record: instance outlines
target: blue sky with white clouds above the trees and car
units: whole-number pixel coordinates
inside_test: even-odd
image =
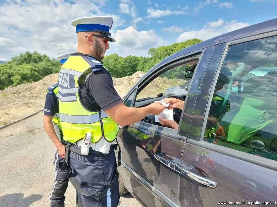
[[[26,51],[56,57],[77,48],[70,22],[112,16],[106,54],[147,55],[149,48],[206,40],[277,18],[276,0],[0,0],[0,60]]]

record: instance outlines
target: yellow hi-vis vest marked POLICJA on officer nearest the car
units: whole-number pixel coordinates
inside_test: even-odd
[[[89,111],[80,101],[79,83],[97,70],[106,70],[102,63],[88,55],[71,55],[59,73],[59,112],[63,139],[75,143],[91,132],[91,142],[102,137],[108,142],[115,140],[118,125],[103,110]],[[105,94],[103,94],[105,95]]]

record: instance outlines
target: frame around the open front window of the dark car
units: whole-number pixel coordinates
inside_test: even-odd
[[[151,71],[151,73],[148,74],[147,77],[142,78],[140,80],[140,83],[138,85],[136,85],[133,89],[130,89],[130,92],[128,94],[128,96],[123,98],[123,103],[125,104],[125,101],[127,101],[127,99],[130,97],[130,95],[132,95],[132,93],[136,90],[136,95],[134,96],[134,101],[133,101],[133,105],[132,107],[135,107],[135,100],[137,95],[151,82],[153,81],[155,78],[157,78],[159,75],[161,75],[162,73],[177,67],[178,65],[182,64],[182,63],[186,63],[189,62],[190,60],[193,59],[198,59],[198,63],[201,61],[201,57],[203,55],[203,51],[205,50],[205,48],[203,49],[199,49],[190,53],[187,53],[185,55],[179,56],[173,60],[170,60],[164,64],[162,64],[161,66],[155,68],[155,70]],[[195,68],[195,72],[198,68],[199,64],[197,64],[196,68]],[[194,72],[194,74],[195,74]],[[194,74],[191,78],[191,81],[193,81],[194,78]],[[190,89],[188,90],[189,94]],[[136,106],[138,107],[138,106]],[[184,110],[184,108],[183,108]],[[180,119],[181,122],[181,119]],[[145,129],[148,130],[150,132],[156,133],[156,134],[160,134],[163,136],[167,136],[167,137],[171,137],[173,139],[179,139],[182,141],[186,140],[186,137],[183,136],[179,136],[179,129],[171,129],[168,127],[163,127],[163,126],[158,126],[155,124],[149,124],[149,123],[145,123],[145,122],[136,122],[134,124],[130,124],[131,126],[137,127],[137,128],[141,128],[141,129]],[[180,123],[179,123],[179,128],[180,128]]]

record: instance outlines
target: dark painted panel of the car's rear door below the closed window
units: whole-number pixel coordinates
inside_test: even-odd
[[[275,170],[186,143],[182,160],[195,166],[199,175],[217,183],[216,188],[200,187],[180,177],[181,206],[217,206],[224,201],[272,202],[277,195]],[[248,206],[248,205],[246,205]],[[250,205],[249,205],[250,206]],[[259,205],[252,205],[259,206]]]

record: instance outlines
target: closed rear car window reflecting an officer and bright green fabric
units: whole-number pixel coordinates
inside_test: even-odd
[[[231,64],[243,63],[240,67]],[[277,161],[277,37],[229,47],[204,141]]]

